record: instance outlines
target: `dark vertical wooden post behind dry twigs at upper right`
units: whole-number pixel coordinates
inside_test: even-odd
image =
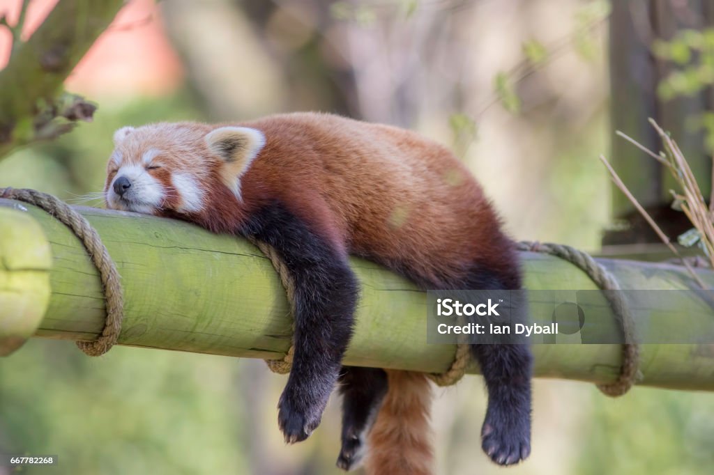
[[[709,0],[613,1],[610,17],[610,85],[612,114],[612,160],[615,170],[635,198],[653,215],[670,238],[691,228],[683,213],[670,208],[674,180],[660,164],[630,143],[615,136],[623,131],[651,150],[661,144],[648,123],[654,118],[672,133],[687,158],[702,193],[711,189],[712,163],[705,153],[703,133],[690,124],[714,101],[711,91],[692,97],[663,101],[657,86],[675,66],[655,58],[655,39],[670,41],[681,29],[702,29],[714,19]],[[625,196],[613,186],[613,215],[626,226],[605,233],[603,245],[628,245],[660,242]],[[609,252],[608,252],[609,253]],[[629,251],[628,251],[629,253]]]

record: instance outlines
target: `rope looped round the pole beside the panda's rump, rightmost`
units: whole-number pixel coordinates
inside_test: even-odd
[[[618,281],[615,280],[615,277],[613,277],[605,267],[595,262],[590,255],[573,247],[550,242],[522,241],[518,243],[518,250],[543,252],[560,257],[578,266],[600,289],[620,290]],[[638,379],[638,362],[640,358],[640,349],[638,344],[634,343],[635,325],[632,320],[632,315],[626,305],[620,305],[614,293],[615,292],[605,292],[605,297],[610,301],[610,307],[620,320],[623,336],[625,337],[625,343],[622,347],[622,367],[620,368],[618,379],[615,379],[614,382],[610,384],[598,384],[598,389],[600,389],[603,394],[611,397],[622,396],[635,384],[635,381]]]

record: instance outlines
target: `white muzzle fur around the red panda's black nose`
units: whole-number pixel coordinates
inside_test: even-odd
[[[124,198],[114,191],[117,178],[126,177],[131,182],[131,188]],[[141,165],[124,165],[116,172],[114,180],[106,190],[106,200],[112,208],[137,213],[151,214],[164,203],[164,187],[152,177]]]

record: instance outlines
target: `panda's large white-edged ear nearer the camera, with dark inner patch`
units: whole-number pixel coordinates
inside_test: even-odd
[[[266,139],[261,131],[248,127],[221,127],[206,135],[206,145],[223,160],[221,178],[241,198],[240,178],[246,173]]]

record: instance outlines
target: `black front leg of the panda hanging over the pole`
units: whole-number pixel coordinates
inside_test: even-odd
[[[346,257],[281,204],[263,208],[240,230],[271,245],[293,277],[295,354],[278,402],[286,442],[320,424],[352,336],[358,285]]]

